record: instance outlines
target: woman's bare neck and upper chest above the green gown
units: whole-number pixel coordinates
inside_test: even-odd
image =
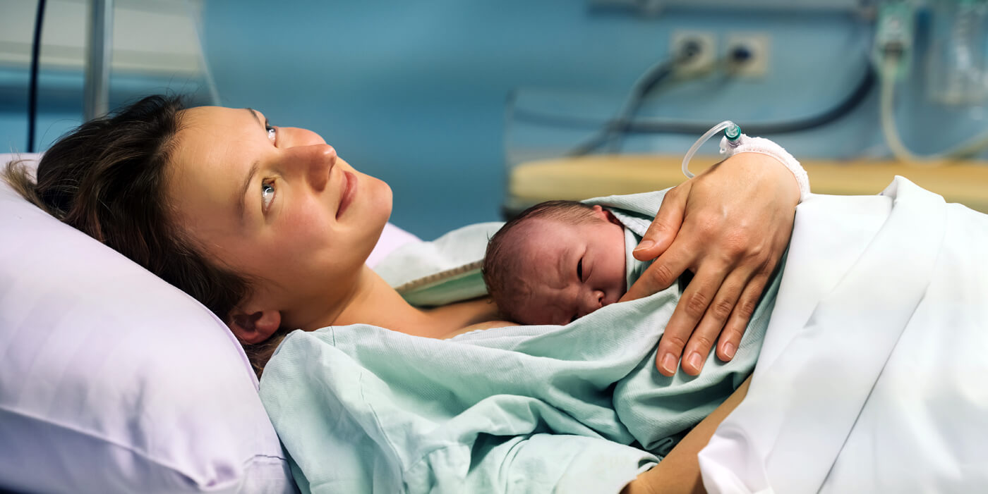
[[[401,298],[370,267],[364,266],[353,295],[344,304],[343,311],[332,318],[331,324],[364,323],[415,336],[439,338],[495,315],[496,307],[486,299],[418,309]]]

